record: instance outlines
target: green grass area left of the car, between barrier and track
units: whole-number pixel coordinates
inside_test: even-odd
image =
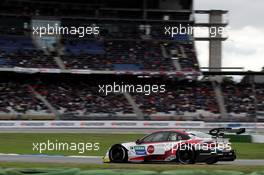
[[[66,142],[66,143],[100,143],[100,150],[86,151],[45,151],[43,154],[51,155],[88,155],[103,156],[107,149],[115,144],[136,140],[144,135],[140,134],[52,134],[52,133],[0,133],[0,153],[39,154],[33,151],[33,143]],[[3,144],[4,143],[4,144]]]

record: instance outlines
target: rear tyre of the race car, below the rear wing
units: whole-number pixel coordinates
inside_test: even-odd
[[[188,145],[181,145],[180,149],[176,153],[177,161],[182,164],[194,164],[195,163],[195,151],[194,148],[189,148]]]

